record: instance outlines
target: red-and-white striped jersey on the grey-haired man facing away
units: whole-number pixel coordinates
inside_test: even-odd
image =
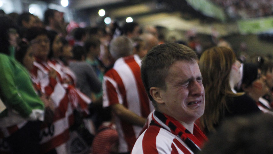
[[[153,110],[140,76],[140,58],[137,55],[121,57],[103,77],[103,107],[122,104],[139,116],[147,118]],[[115,117],[119,133],[119,153],[131,151],[142,127],[128,124]]]

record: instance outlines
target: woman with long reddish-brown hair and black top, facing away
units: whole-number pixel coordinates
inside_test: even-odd
[[[224,118],[260,112],[253,99],[234,90],[241,80],[240,66],[235,53],[226,47],[212,47],[200,57],[206,99],[200,124],[207,133],[214,132]]]

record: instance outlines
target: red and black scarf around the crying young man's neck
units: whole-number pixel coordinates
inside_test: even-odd
[[[187,130],[180,122],[174,118],[154,111],[152,114],[152,121],[150,125],[159,126],[165,130],[168,130],[172,134],[179,136],[184,143],[191,149],[193,152],[201,151],[200,148],[208,138],[205,134],[194,124],[193,134]]]

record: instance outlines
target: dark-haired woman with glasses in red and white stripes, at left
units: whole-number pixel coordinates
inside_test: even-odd
[[[50,51],[47,30],[32,27],[27,31],[26,39],[35,57],[31,70],[32,81],[42,93],[53,100],[55,109],[52,124],[44,123],[40,130],[41,153],[67,153],[73,111],[66,90],[57,79],[57,73],[47,63]]]

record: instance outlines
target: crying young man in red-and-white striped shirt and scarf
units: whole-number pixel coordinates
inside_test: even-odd
[[[196,53],[177,43],[152,48],[141,63],[141,77],[155,111],[132,154],[190,154],[207,140],[194,124],[205,98]]]

